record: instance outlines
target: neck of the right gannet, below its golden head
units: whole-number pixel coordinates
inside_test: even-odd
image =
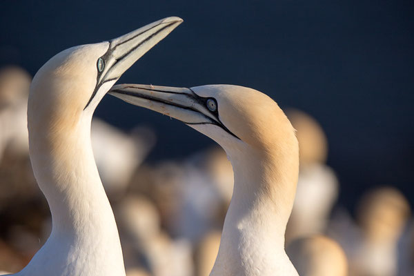
[[[232,153],[235,187],[210,275],[297,275],[284,250],[297,164],[253,150]]]

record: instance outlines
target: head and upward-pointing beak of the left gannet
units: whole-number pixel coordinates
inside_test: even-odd
[[[168,17],[124,36],[75,46],[46,62],[30,87],[28,126],[72,126],[92,116],[109,88],[182,19]]]

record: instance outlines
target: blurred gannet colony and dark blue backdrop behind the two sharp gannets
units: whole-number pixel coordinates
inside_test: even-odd
[[[301,148],[291,259],[297,241],[322,234],[344,250],[349,275],[413,275],[414,3],[402,0],[1,1],[0,270],[21,269],[50,231],[28,159],[32,76],[61,50],[168,16],[184,23],[118,83],[270,95]],[[224,152],[110,96],[92,144],[128,275],[208,275],[233,188]]]

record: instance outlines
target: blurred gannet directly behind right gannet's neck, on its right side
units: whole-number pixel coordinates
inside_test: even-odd
[[[288,110],[288,119],[299,141],[299,179],[292,214],[286,228],[286,242],[325,233],[329,215],[338,197],[339,181],[325,162],[326,135],[318,122],[299,110]]]

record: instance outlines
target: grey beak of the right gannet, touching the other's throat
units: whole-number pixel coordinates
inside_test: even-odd
[[[183,121],[184,124],[219,126],[238,138],[221,123],[218,110],[208,109],[208,101],[212,99],[200,97],[191,88],[119,84],[113,86],[108,93],[135,106],[148,108]]]

